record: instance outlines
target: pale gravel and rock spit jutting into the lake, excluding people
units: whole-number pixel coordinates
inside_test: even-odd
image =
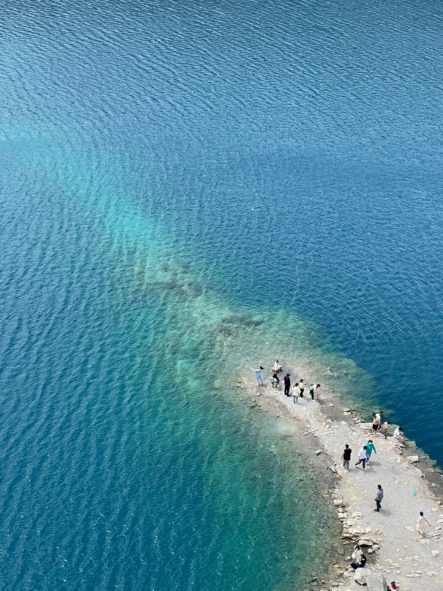
[[[299,376],[309,383],[318,381],[318,375],[312,375],[309,366],[295,362],[284,365],[281,374],[289,372],[292,384]],[[371,438],[371,424],[366,423],[364,417],[372,416],[372,411],[365,413],[362,408],[348,407],[333,388],[322,387],[320,400],[314,401],[309,394],[306,397],[305,390],[305,397],[299,398],[296,405],[292,397],[285,397],[282,387],[279,391],[271,387],[266,374],[269,375],[269,371],[265,369],[265,385],[260,387],[249,368],[241,369],[237,381],[239,394],[253,410],[265,411],[297,425],[302,452],[311,465],[320,468],[315,472],[323,498],[337,511],[341,525],[338,560],[330,565],[328,573],[312,580],[312,591],[351,591],[359,588],[360,583],[371,591],[384,591],[390,589],[386,582],[389,584],[393,580],[401,591],[442,589],[443,477],[437,462],[417,449],[414,441],[400,445],[392,437],[393,430],[387,440],[381,434]],[[358,450],[368,439],[374,440],[377,454],[373,454],[370,466],[363,472],[354,467],[354,462]],[[340,461],[345,443],[353,450],[349,473],[341,467]],[[377,514],[372,499],[379,481],[385,490],[385,499],[382,511]],[[425,540],[418,540],[415,531],[419,511],[424,511],[432,524]],[[364,573],[359,583],[354,580],[354,571],[348,571],[349,557],[356,543],[368,558],[367,571],[373,573],[366,583]]]

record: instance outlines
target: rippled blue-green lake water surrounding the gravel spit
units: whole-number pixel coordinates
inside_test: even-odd
[[[438,2],[9,2],[4,589],[302,589],[328,560],[271,356],[443,464]]]

